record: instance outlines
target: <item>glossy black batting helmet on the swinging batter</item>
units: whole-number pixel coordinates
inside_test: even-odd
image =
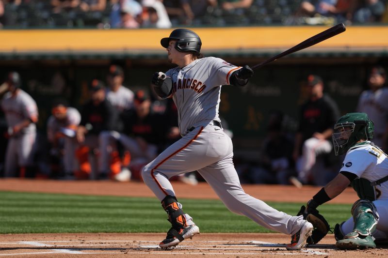
[[[161,45],[164,48],[167,48],[170,40],[172,39],[177,40],[175,48],[180,52],[194,51],[196,53],[199,53],[199,51],[201,50],[201,39],[192,30],[175,29],[171,32],[168,38],[161,39]]]

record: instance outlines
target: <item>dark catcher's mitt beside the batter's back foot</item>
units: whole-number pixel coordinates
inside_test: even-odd
[[[303,218],[314,226],[311,236],[307,238],[308,244],[318,243],[330,230],[329,223],[317,209],[310,208],[307,212],[306,207],[302,205],[297,215],[303,215]]]

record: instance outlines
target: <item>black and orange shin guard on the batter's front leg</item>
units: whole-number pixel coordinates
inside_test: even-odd
[[[162,207],[168,214],[168,221],[173,228],[180,229],[187,227],[186,217],[182,210],[182,204],[180,204],[175,196],[166,196],[162,200]]]

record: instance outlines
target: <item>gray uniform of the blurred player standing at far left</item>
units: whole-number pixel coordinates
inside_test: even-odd
[[[1,102],[9,127],[29,119],[33,121],[19,133],[9,139],[5,155],[5,177],[17,176],[17,167],[32,165],[33,151],[36,140],[38,108],[36,102],[25,91],[19,89],[15,96],[8,92]]]

